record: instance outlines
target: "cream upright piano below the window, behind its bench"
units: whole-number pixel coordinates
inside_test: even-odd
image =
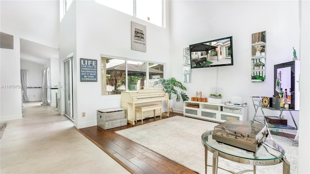
[[[169,98],[164,91],[156,91],[155,89],[140,89],[138,91],[122,91],[121,93],[121,107],[126,109],[127,122],[135,124],[135,119],[141,119],[141,113],[135,116],[135,107],[148,105],[148,104],[162,104],[162,101],[167,101],[167,114],[163,113],[162,116],[169,116]],[[156,110],[156,116],[160,115],[160,110]],[[154,117],[153,111],[146,111],[143,117]]]

